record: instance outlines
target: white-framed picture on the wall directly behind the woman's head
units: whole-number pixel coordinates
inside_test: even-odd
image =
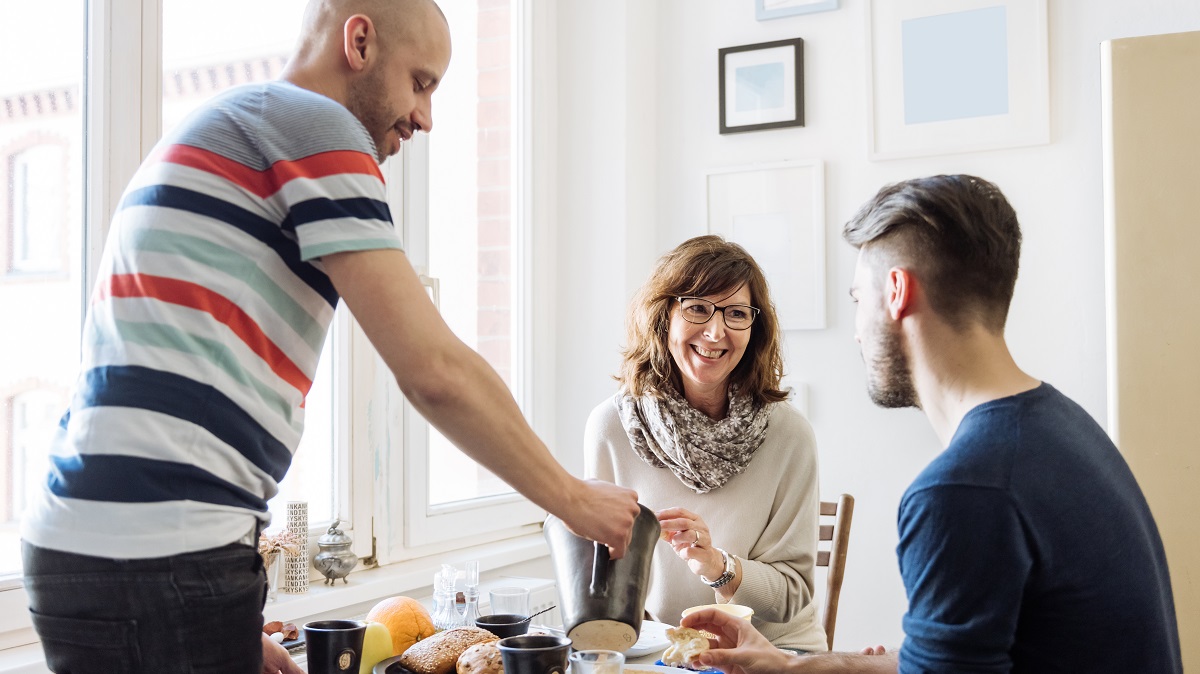
[[[826,326],[824,164],[780,162],[709,171],[708,231],[762,267],[782,330]]]

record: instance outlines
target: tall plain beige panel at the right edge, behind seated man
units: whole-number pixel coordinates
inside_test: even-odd
[[[1166,547],[1183,669],[1200,672],[1200,32],[1105,42],[1102,67],[1109,429]]]

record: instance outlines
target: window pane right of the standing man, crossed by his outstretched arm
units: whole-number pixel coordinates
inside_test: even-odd
[[[528,5],[478,0],[442,8],[454,60],[433,97],[434,132],[407,150],[404,192],[415,200],[406,203],[408,254],[427,275],[443,318],[530,417]],[[394,550],[511,535],[545,516],[412,410],[406,420],[406,541],[392,541]]]

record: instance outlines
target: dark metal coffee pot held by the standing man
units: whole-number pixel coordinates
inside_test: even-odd
[[[608,559],[607,546],[576,536],[554,516],[546,518],[558,608],[575,649],[625,652],[637,643],[660,531],[654,513],[641,506],[625,556]]]

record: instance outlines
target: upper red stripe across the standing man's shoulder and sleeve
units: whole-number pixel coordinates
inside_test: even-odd
[[[278,161],[266,170],[256,170],[209,150],[191,145],[168,145],[157,150],[146,163],[154,162],[180,164],[210,173],[262,199],[275,194],[298,177],[318,179],[359,174],[370,175],[383,182],[383,174],[379,173],[379,164],[374,157],[352,150],[319,152],[295,161]]]

